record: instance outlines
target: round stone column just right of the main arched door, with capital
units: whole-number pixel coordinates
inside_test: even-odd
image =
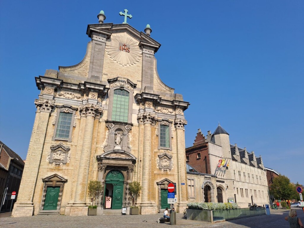
[[[154,113],[139,113],[137,119],[143,123],[143,170],[142,170],[142,194],[141,214],[155,213],[156,204],[151,201],[151,193],[148,190],[151,184],[151,125],[157,116]]]

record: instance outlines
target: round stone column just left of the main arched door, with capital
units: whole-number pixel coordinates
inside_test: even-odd
[[[90,157],[92,150],[92,138],[95,118],[100,118],[103,112],[99,105],[86,104],[79,106],[81,118],[85,118],[85,131],[81,148],[80,163],[78,166],[78,177],[75,198],[70,209],[70,215],[87,215],[86,193],[88,188],[88,175]]]

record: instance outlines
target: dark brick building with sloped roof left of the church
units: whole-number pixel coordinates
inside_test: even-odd
[[[22,158],[0,141],[0,201],[3,202],[1,212],[9,211],[12,202],[13,205],[16,202],[23,168]],[[13,191],[16,192],[16,199],[11,199]]]

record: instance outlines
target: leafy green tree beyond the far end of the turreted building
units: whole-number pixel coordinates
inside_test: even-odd
[[[290,183],[288,177],[284,175],[279,175],[272,180],[271,185],[271,195],[274,195],[275,199],[287,200],[293,198],[294,195],[294,185]]]

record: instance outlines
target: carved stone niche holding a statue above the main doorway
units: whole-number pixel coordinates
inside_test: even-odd
[[[109,130],[106,133],[104,151],[125,150],[130,152],[132,148],[130,145],[132,126],[127,123],[114,123],[112,121],[107,122],[106,126]]]

